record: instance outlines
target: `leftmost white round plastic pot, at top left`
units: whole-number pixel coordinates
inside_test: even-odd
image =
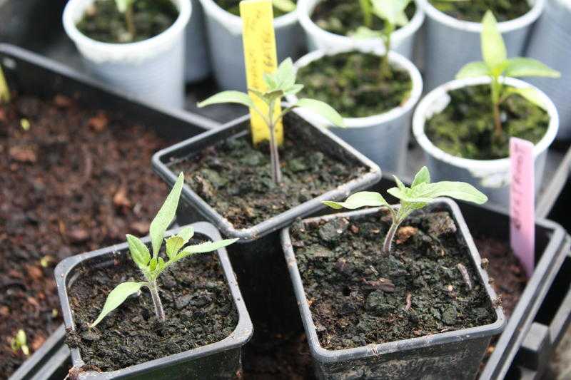
[[[166,31],[134,43],[105,43],[82,34],[76,23],[94,0],[69,0],[64,29],[96,78],[147,103],[183,108],[185,29],[189,0],[172,0],[178,18]]]

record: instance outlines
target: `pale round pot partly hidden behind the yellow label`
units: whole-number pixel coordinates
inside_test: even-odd
[[[242,19],[216,4],[200,0],[206,16],[206,31],[212,69],[218,86],[223,90],[246,91],[246,72],[242,41]],[[276,31],[278,61],[297,58],[300,48],[300,28],[296,12],[273,21]]]

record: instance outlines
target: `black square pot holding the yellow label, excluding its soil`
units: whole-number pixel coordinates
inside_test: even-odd
[[[295,113],[290,113],[286,115],[286,124],[288,119],[291,120],[290,118],[300,117]],[[243,116],[223,128],[208,131],[170,148],[160,150],[153,156],[153,169],[172,187],[178,173],[174,173],[169,168],[171,163],[192,157],[222,140],[248,135],[249,120],[249,115]],[[318,210],[323,210],[325,206],[321,201],[345,199],[351,193],[377,183],[381,178],[380,168],[375,163],[325,128],[306,123],[303,128],[298,127],[295,133],[298,134],[296,136],[298,138],[317,142],[318,148],[323,152],[341,160],[353,160],[360,166],[368,168],[368,173],[348,183],[341,183],[337,188],[319,197],[249,228],[234,228],[226,218],[186,184],[183,186],[181,195],[183,202],[178,212],[178,223],[181,225],[197,220],[208,220],[221,230],[224,237],[241,239],[228,247],[228,254],[253,319],[254,340],[261,342],[268,341],[268,337],[273,334],[286,334],[301,330],[295,297],[283,260],[279,230],[291,225],[298,217],[307,217]]]

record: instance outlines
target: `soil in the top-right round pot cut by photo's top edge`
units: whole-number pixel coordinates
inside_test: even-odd
[[[439,11],[462,21],[481,22],[486,11],[494,13],[497,21],[510,21],[527,14],[531,6],[527,0],[429,0]]]

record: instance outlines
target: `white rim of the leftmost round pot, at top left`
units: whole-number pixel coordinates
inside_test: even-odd
[[[143,61],[167,51],[183,32],[191,18],[192,5],[188,0],[171,0],[178,9],[175,22],[161,34],[143,41],[131,43],[108,43],[96,41],[77,29],[76,22],[81,19],[85,9],[95,0],[69,0],[64,8],[62,21],[66,34],[77,48],[91,61]]]

